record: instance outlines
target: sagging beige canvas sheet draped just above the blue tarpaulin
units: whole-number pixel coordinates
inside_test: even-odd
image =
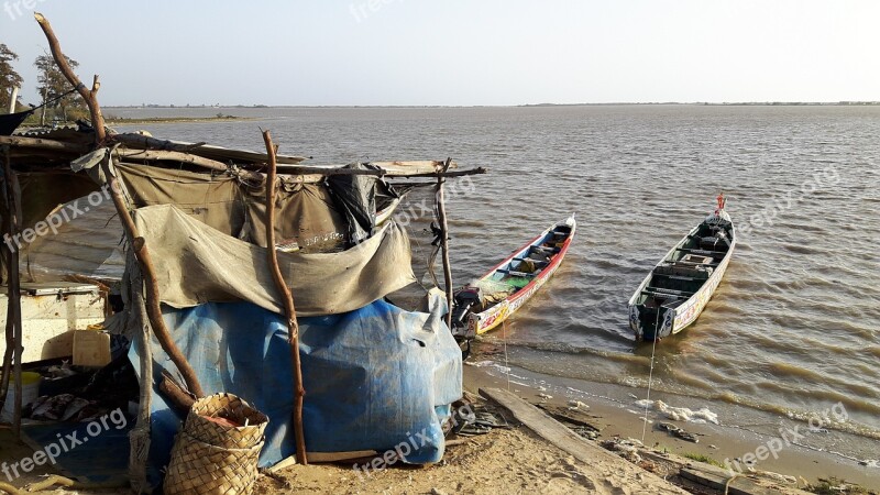
[[[184,308],[245,300],[284,312],[265,248],[226,235],[172,205],[141,208],[134,220],[153,258],[162,302]],[[343,252],[278,252],[278,264],[301,316],[351,311],[416,279],[409,239],[394,222]]]

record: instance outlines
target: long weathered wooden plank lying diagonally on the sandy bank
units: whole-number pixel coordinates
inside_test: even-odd
[[[625,480],[628,484],[641,483],[645,485],[646,491],[651,493],[686,494],[683,490],[661,480],[656,474],[645,471],[596,443],[585,440],[512,392],[501,388],[481,388],[480,395],[496,402],[539,437],[568,452],[574,459],[590,465],[592,470],[596,471],[598,479],[607,482]]]

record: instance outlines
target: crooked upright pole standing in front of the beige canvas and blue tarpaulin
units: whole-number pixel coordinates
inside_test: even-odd
[[[302,369],[299,363],[299,323],[296,321],[296,308],[294,307],[294,296],[290,288],[284,280],[280,266],[278,266],[278,253],[275,249],[275,145],[272,143],[272,134],[263,131],[263,141],[266,143],[266,154],[268,154],[268,170],[266,172],[266,251],[268,265],[272,270],[272,278],[280,293],[284,302],[284,311],[287,317],[287,338],[290,344],[290,358],[294,365],[294,435],[296,436],[296,462],[308,464],[306,457],[306,439],[302,433],[302,397],[306,391],[302,387]]]

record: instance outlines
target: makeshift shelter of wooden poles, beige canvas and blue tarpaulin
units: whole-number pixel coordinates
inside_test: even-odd
[[[442,217],[444,177],[484,170],[450,170],[451,161],[306,166],[277,155],[267,132],[266,153],[114,133],[98,107],[97,76],[86,89],[36,18],[92,122],[0,135],[0,402],[14,391],[16,432],[24,334],[29,352],[43,345],[34,361],[68,355],[72,327],[89,337],[97,328],[116,336],[112,354],[129,356],[140,383],[138,397],[112,397],[135,399],[129,475],[138,492],[161,483],[188,393],[230,392],[263,410],[263,466],[294,452],[306,462],[307,452],[395,448],[403,462],[440,460],[462,375],[443,321],[448,257],[446,300],[388,302],[416,280],[408,238],[389,220],[400,195],[384,179],[437,179]],[[46,296],[64,318],[32,336],[29,298]],[[100,314],[85,318],[84,307]],[[403,444],[411,448],[403,453]]]

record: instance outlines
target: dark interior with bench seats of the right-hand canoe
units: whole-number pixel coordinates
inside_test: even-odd
[[[673,309],[703,287],[727,255],[732,239],[733,224],[729,221],[710,219],[694,229],[653,268],[637,302],[646,334],[652,334],[662,319],[658,318],[660,308]]]

